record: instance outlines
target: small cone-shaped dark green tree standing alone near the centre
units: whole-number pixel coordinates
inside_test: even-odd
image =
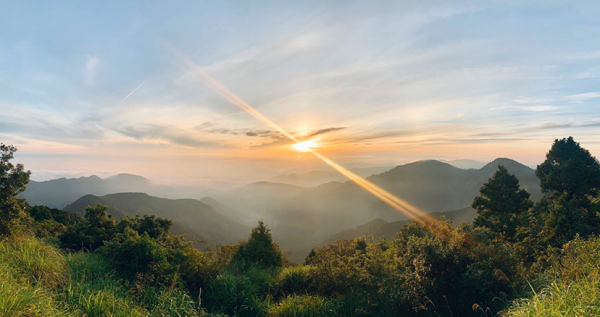
[[[258,226],[252,229],[248,241],[240,244],[232,261],[245,268],[276,268],[283,265],[283,255],[279,246],[273,242],[271,231],[264,222],[259,221]]]

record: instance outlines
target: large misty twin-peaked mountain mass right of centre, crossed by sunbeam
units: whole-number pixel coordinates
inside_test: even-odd
[[[439,161],[419,161],[397,166],[367,179],[425,213],[469,207],[481,186],[504,165],[532,196],[541,192],[534,170],[516,161],[499,158],[480,169],[461,169]],[[289,185],[287,185],[289,186]],[[332,233],[354,228],[372,219],[406,220],[406,215],[382,202],[354,182],[330,182],[301,189],[285,184],[254,185],[218,198],[254,222],[264,220],[285,251],[303,254]],[[251,223],[241,223],[249,225]]]

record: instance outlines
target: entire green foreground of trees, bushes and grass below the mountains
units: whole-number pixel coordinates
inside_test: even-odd
[[[573,138],[536,169],[534,202],[499,166],[472,222],[419,219],[286,259],[259,222],[206,250],[170,219],[17,198],[30,173],[0,146],[2,316],[591,316],[600,314],[600,164]]]

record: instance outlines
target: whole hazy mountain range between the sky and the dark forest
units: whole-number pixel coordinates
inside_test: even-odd
[[[446,213],[452,215],[448,216],[451,220],[468,220],[474,214],[467,207],[499,165],[504,165],[519,178],[521,186],[531,194],[533,200],[541,198],[534,170],[507,158],[496,159],[479,169],[462,169],[449,163],[427,160],[391,169],[380,167],[360,170],[363,175],[382,171],[367,179],[425,213]],[[292,252],[292,257],[303,257],[313,245],[322,244],[336,233],[339,237],[354,235],[344,233],[349,229],[359,228],[354,231],[356,234],[386,237],[389,236],[386,232],[395,232],[394,228],[407,220],[406,215],[351,181],[334,180],[317,186],[297,185],[316,184],[319,179],[330,180],[330,176],[322,171],[281,175],[275,178],[281,182],[261,181],[228,191],[215,191],[210,198],[204,196],[207,192],[204,188],[158,185],[141,176],[119,174],[105,179],[90,176],[32,182],[20,197],[32,205],[65,208],[70,204],[65,210],[79,213],[86,205],[104,203],[119,217],[155,214],[171,218],[174,230],[187,230],[215,243],[245,238],[247,228],[263,220],[282,249]],[[124,192],[143,192],[148,195],[111,195]],[[158,197],[201,200],[161,200]],[[379,220],[370,223],[374,219]],[[369,230],[360,228],[366,224],[369,224]],[[228,240],[225,237],[227,235],[231,239]]]

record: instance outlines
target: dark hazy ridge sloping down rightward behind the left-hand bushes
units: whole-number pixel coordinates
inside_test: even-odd
[[[120,193],[106,196],[85,195],[64,208],[79,215],[86,206],[104,204],[108,213],[120,219],[124,216],[155,215],[173,221],[172,233],[184,234],[207,241],[208,246],[237,243],[250,232],[245,227],[216,212],[211,206],[195,199],[165,199],[144,193]]]

